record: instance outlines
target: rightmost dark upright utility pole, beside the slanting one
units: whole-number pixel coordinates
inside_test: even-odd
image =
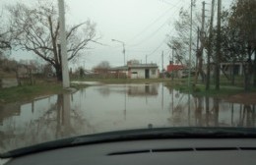
[[[218,22],[217,22],[217,55],[216,55],[216,66],[215,66],[215,76],[216,76],[216,86],[217,90],[220,90],[220,61],[221,61],[221,9],[222,0],[218,0]]]

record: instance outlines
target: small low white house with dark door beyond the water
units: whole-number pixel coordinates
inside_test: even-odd
[[[118,75],[125,74],[130,79],[158,79],[160,77],[157,64],[141,64],[137,60],[131,60],[126,66],[111,68],[109,71]]]

